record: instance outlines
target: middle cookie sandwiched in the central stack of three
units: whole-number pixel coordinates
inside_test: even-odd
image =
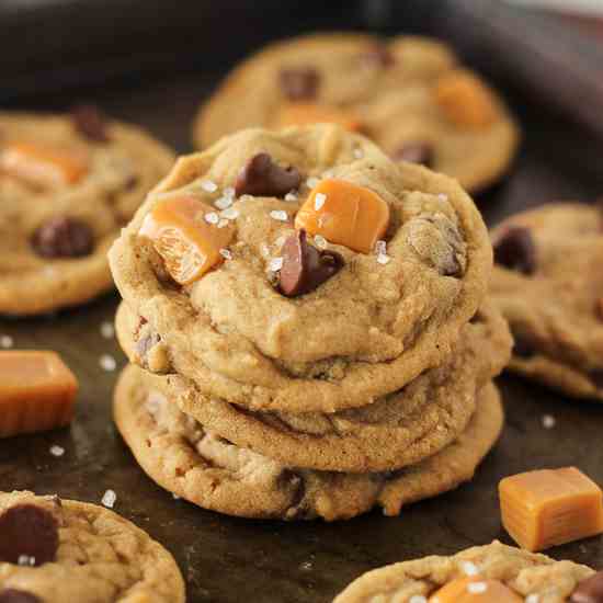
[[[122,304],[116,332],[137,357],[138,319]],[[453,442],[476,409],[476,396],[509,361],[511,338],[489,305],[464,327],[453,357],[402,390],[333,414],[253,412],[204,396],[190,379],[158,377],[156,388],[206,429],[287,466],[334,471],[384,471],[411,465]]]

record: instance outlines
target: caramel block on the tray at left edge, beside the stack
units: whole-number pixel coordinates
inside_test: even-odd
[[[55,352],[0,352],[0,437],[67,425],[78,380]]]

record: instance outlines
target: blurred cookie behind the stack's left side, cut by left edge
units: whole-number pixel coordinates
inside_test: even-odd
[[[90,107],[0,112],[0,314],[53,311],[111,289],[106,252],[173,159]]]

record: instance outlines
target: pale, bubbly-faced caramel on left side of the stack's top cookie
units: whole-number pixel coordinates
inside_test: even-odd
[[[218,215],[214,207],[193,196],[174,197],[159,202],[140,228],[139,234],[152,240],[167,271],[181,285],[197,281],[220,264],[220,249],[232,239],[230,223],[218,228],[206,216]]]

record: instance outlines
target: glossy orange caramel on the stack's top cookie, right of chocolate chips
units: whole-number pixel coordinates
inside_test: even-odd
[[[373,191],[344,180],[322,180],[310,192],[295,227],[371,253],[389,224],[389,206]]]

